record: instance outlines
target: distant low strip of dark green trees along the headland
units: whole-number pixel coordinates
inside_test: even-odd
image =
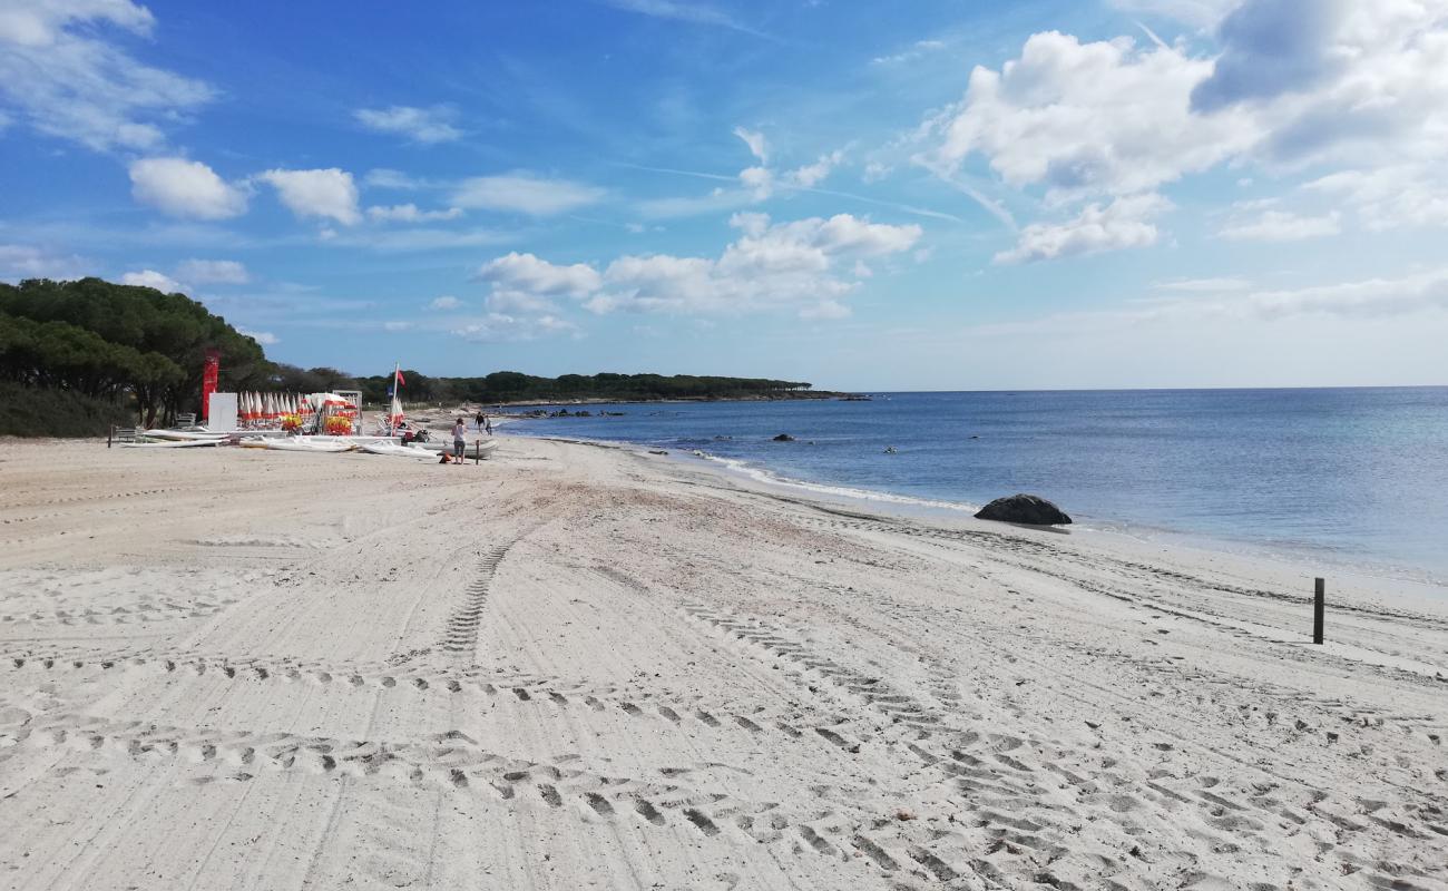
[[[565,374],[540,378],[517,371],[494,371],[481,378],[432,378],[403,371],[403,398],[417,403],[530,403],[557,400],[602,400],[611,403],[652,400],[724,398],[824,398],[802,381],[766,378],[721,378],[691,374]],[[387,401],[391,375],[358,378],[363,401]]]

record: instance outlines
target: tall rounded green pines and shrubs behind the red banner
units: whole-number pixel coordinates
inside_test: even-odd
[[[262,348],[184,294],[100,278],[0,284],[0,381],[25,391],[0,433],[94,435],[117,416],[153,426],[197,411],[207,348],[222,351],[223,390],[268,385]]]

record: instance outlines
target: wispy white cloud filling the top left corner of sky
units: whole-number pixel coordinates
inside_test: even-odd
[[[0,4],[0,96],[36,130],[96,151],[156,149],[162,123],[211,88],[100,39],[97,23],[148,36],[155,19],[129,0]]]

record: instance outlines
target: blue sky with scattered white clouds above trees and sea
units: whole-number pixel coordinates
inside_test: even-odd
[[[0,280],[269,358],[1448,384],[1448,0],[0,0]]]

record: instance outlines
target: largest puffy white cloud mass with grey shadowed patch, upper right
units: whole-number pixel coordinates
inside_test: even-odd
[[[1344,175],[1329,174],[1318,188],[1342,196],[1370,227],[1444,219],[1448,1],[1118,6],[1216,25],[1216,52],[1154,35],[1145,48],[1129,38],[1032,35],[1019,58],[975,68],[963,100],[922,123],[915,161],[959,185],[967,162],[983,159],[1003,185],[1040,190],[1047,209],[1156,191],[1221,165],[1255,164],[1274,175],[1335,165]],[[967,191],[992,206],[979,188]],[[1331,213],[1229,226],[1242,238],[1339,227]],[[1058,227],[1031,229],[1040,236]],[[1147,227],[1135,232],[1125,243],[1154,238]]]

